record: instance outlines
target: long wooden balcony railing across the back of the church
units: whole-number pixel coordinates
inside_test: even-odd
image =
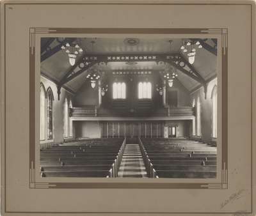
[[[134,116],[195,116],[194,107],[166,107],[151,111],[143,111],[140,109],[130,110],[116,110],[116,109],[104,109],[95,105],[86,107],[73,107],[70,108],[70,116],[72,117],[105,117],[105,116],[122,116],[122,117],[134,117]]]

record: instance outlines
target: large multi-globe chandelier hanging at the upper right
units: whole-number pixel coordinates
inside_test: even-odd
[[[198,40],[186,40],[182,42],[180,49],[182,52],[188,52],[188,61],[191,65],[195,62],[196,48],[202,49],[202,44]]]

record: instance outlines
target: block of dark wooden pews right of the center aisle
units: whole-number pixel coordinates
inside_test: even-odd
[[[140,139],[150,178],[216,178],[216,147],[188,139]]]

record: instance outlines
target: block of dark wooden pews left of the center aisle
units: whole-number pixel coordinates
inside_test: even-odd
[[[41,177],[117,176],[125,139],[92,139],[40,150]]]

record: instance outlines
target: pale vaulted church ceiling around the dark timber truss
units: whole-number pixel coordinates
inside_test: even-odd
[[[170,40],[172,42],[170,43]],[[195,63],[193,65],[186,65],[185,70],[191,72],[191,68],[198,73],[202,81],[207,81],[211,77],[216,76],[216,40],[208,38],[200,40],[203,48],[196,49]],[[82,57],[88,56],[113,56],[113,55],[131,55],[131,54],[170,54],[178,53],[188,61],[186,54],[180,50],[184,40],[177,38],[42,38],[41,40],[41,73],[49,79],[52,79],[56,84],[63,85],[76,93],[79,88],[86,82],[86,70],[83,70],[79,75],[71,76],[72,79],[67,78],[68,72],[76,73],[81,70],[79,66],[71,66],[68,61],[68,55],[61,49],[61,45],[66,42],[75,42],[83,49],[83,54],[77,56],[76,61]],[[84,56],[83,56],[84,55]],[[90,61],[88,61],[90,62]],[[129,62],[129,63],[127,63]],[[164,61],[136,61],[131,59],[129,61],[109,61],[100,63],[100,61],[93,64],[88,70],[104,71],[111,73],[111,70],[152,70],[164,71],[170,68],[170,64]],[[85,68],[86,69],[86,68]],[[184,73],[182,68],[177,67],[177,74],[179,81],[191,91],[196,86],[202,84],[198,80],[193,79]],[[74,74],[73,74],[74,75]]]

